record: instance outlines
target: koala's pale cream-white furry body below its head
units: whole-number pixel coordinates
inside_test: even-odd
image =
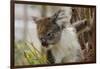
[[[83,59],[80,44],[73,27],[63,30],[61,40],[51,49],[55,63],[80,62]]]

